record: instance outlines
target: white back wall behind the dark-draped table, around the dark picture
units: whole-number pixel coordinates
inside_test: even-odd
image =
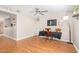
[[[57,21],[59,23],[59,21],[62,20],[62,17],[64,15],[65,15],[65,13],[61,12],[60,14],[51,13],[51,14],[47,14],[45,16],[40,16],[40,21],[38,22],[38,27],[39,27],[38,32],[45,29],[45,27],[47,26],[47,20],[48,19],[57,19]],[[69,28],[68,28],[67,23],[64,21],[60,25],[61,25],[61,29],[62,29],[61,40],[62,41],[69,41]],[[55,31],[56,26],[50,26],[50,27],[51,27],[52,31]]]

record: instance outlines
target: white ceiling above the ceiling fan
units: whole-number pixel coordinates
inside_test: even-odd
[[[21,13],[30,14],[34,12],[35,8],[48,10],[48,13],[72,12],[72,6],[70,5],[0,5],[0,7],[14,12],[19,10]]]

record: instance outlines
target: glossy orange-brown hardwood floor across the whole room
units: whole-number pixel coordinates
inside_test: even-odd
[[[7,37],[0,37],[0,52],[15,53],[76,53],[72,44],[58,40],[47,40],[40,37],[31,37],[15,41]]]

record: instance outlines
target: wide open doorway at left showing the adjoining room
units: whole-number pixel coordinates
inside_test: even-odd
[[[0,36],[16,38],[16,15],[0,11]]]

